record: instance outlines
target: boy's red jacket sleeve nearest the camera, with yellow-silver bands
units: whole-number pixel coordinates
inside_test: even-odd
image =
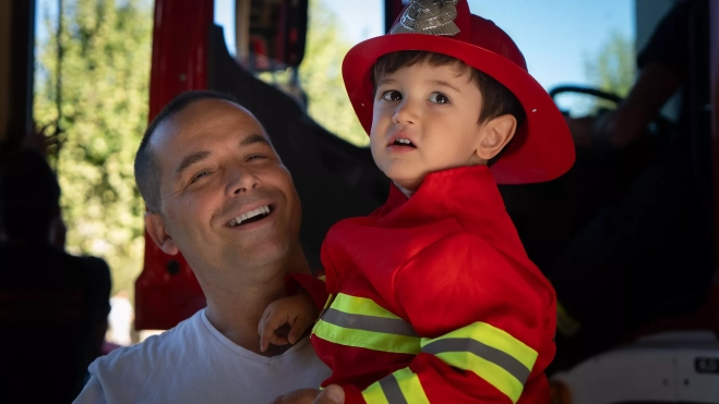
[[[527,265],[467,234],[419,253],[394,290],[421,353],[361,392],[347,387],[346,403],[516,403],[529,383],[547,392],[532,403],[549,403],[555,297]]]

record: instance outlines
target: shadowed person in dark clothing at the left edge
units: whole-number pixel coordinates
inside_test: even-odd
[[[0,402],[72,401],[107,330],[110,271],[62,249],[60,186],[45,157],[0,168]],[[60,235],[60,237],[58,237]]]

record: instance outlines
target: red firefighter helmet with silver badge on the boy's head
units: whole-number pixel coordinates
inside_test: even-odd
[[[512,38],[493,22],[470,14],[466,0],[411,0],[390,34],[355,46],[345,57],[343,77],[355,112],[369,134],[372,126],[372,69],[387,53],[422,50],[462,60],[507,87],[522,102],[526,122],[492,167],[503,184],[556,179],[575,159],[572,135],[544,88],[529,75]]]

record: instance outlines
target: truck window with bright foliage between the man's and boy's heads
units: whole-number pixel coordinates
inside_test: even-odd
[[[248,10],[249,4],[254,10],[251,15],[254,19],[257,3],[262,2],[215,1],[215,23],[224,28],[230,54],[259,78],[293,96],[331,133],[355,146],[368,146],[369,138],[347,98],[340,66],[343,58],[355,44],[383,34],[384,1],[310,0],[307,41],[299,69],[273,60],[272,56],[265,58],[262,40],[238,42],[243,34],[237,33],[241,24],[236,21],[236,15],[238,19],[244,17],[238,10]],[[253,64],[248,63],[251,59],[255,61]]]

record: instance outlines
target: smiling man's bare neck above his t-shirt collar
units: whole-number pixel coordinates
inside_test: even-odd
[[[309,266],[301,250],[299,256],[277,264],[274,268],[256,268],[252,271],[252,273],[274,274],[271,278],[244,279],[232,282],[231,286],[226,285],[229,287],[212,291],[203,287],[207,296],[207,319],[223,335],[248,351],[264,356],[280,355],[289,346],[271,345],[266,352],[260,352],[257,326],[267,306],[286,296],[285,276],[288,272],[309,273]]]

